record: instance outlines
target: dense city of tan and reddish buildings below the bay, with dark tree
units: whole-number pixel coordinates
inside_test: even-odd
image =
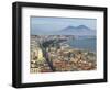
[[[74,35],[31,35],[30,72],[97,69],[96,53],[70,47]]]

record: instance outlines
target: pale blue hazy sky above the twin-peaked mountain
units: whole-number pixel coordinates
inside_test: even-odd
[[[96,19],[31,16],[31,33],[59,31],[67,26],[86,25],[96,30]]]

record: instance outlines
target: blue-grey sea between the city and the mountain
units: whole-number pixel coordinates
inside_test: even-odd
[[[97,40],[96,37],[77,37],[77,38],[72,38],[68,41],[68,44],[73,48],[79,48],[79,49],[85,49],[89,52],[96,52],[97,49]]]

